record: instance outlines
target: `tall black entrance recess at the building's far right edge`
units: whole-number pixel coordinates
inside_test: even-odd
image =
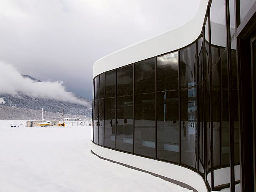
[[[256,3],[240,21],[236,2],[241,191],[256,191]],[[252,171],[253,170],[253,171]]]

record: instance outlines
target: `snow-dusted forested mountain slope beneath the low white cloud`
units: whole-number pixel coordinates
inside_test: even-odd
[[[30,78],[33,81],[41,82],[40,80],[37,80],[28,75],[23,75],[23,77]],[[62,112],[62,109],[64,108],[64,112],[66,114],[84,115],[87,117],[91,117],[91,108],[92,108],[91,99],[87,99],[79,95],[76,95],[76,97],[80,100],[86,101],[87,105],[83,106],[81,104],[57,101],[55,99],[33,98],[25,94],[19,94],[19,95],[0,94],[0,98],[1,98],[0,101],[2,101],[0,102],[0,105],[22,108],[22,109],[32,109],[32,110],[42,110],[43,108],[47,112],[54,112],[54,113]],[[2,117],[0,118],[3,118],[3,114],[7,112],[7,111],[6,112],[3,111],[4,109],[8,109],[8,108],[6,107],[1,108],[0,116]]]

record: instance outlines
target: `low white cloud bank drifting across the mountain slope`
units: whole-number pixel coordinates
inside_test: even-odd
[[[72,92],[66,91],[62,81],[36,82],[23,77],[12,65],[0,61],[0,93],[17,95],[19,93],[35,97],[66,101],[75,104],[88,105],[86,101],[77,99]],[[40,73],[40,71],[38,71]]]

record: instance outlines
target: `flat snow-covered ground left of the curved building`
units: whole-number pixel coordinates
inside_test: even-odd
[[[0,120],[0,192],[190,191],[99,159],[91,153],[90,126],[41,128],[25,123]]]

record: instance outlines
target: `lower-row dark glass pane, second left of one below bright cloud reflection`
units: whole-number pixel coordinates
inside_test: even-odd
[[[116,148],[132,153],[133,101],[132,96],[118,97],[116,105]]]

